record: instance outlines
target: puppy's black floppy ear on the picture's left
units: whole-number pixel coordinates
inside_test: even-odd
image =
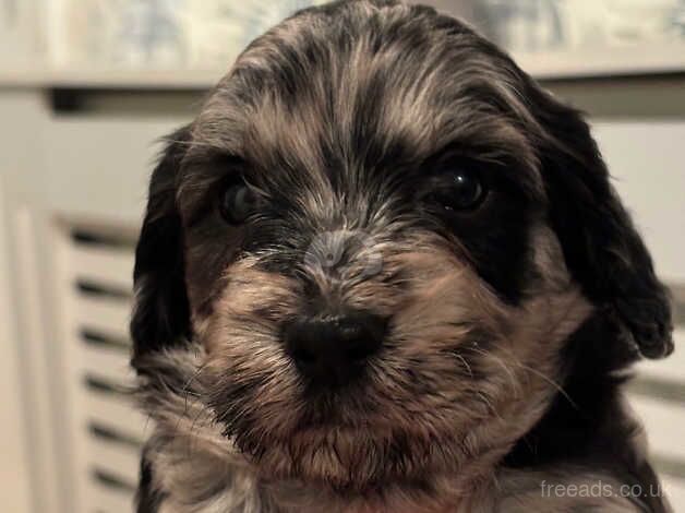
[[[189,141],[188,127],[166,139],[166,148],[149,183],[133,272],[133,367],[142,356],[182,344],[190,335],[183,238],[176,205],[177,179]]]

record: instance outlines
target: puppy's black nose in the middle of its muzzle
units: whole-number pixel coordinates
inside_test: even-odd
[[[284,330],[298,369],[315,384],[337,386],[357,377],[378,351],[386,321],[365,312],[300,318]]]

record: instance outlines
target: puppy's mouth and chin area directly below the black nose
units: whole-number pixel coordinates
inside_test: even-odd
[[[453,470],[462,451],[449,406],[433,410],[416,391],[389,382],[376,358],[342,385],[300,378],[278,404],[242,389],[232,404],[215,407],[228,411],[220,416],[225,434],[267,480],[363,491]]]

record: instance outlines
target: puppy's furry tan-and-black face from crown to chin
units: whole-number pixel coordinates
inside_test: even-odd
[[[177,138],[153,184],[173,196],[156,205],[182,247],[173,301],[205,349],[203,401],[265,478],[364,489],[494,463],[612,301],[567,218],[585,201],[629,228],[587,127],[431,10],[286,21]]]

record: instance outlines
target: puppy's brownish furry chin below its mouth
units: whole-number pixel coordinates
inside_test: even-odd
[[[340,492],[361,493],[389,484],[420,485],[429,476],[457,472],[465,456],[452,433],[428,438],[371,422],[303,426],[284,439],[253,440],[236,434],[239,449],[264,480]]]

